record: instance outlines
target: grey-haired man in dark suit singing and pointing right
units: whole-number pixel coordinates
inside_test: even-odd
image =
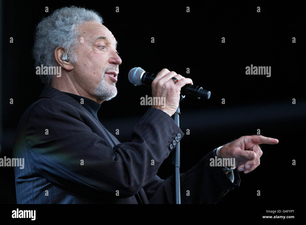
[[[153,106],[120,143],[99,122],[101,103],[117,94],[117,41],[93,11],[64,7],[37,26],[33,55],[37,66],[60,66],[60,75],[40,74],[46,87],[23,114],[13,147],[24,158],[15,169],[17,203],[173,203],[173,178],[156,174],[184,133],[171,116],[180,90],[192,80],[162,69],[152,83]],[[172,77],[178,79],[174,82]],[[208,153],[181,174],[181,203],[216,203],[239,186],[239,171],[259,165],[263,136],[244,136]],[[211,167],[210,159],[235,158],[236,167]],[[155,165],[151,165],[154,159]],[[189,195],[186,192],[189,191]]]

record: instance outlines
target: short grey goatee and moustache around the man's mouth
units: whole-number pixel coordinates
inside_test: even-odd
[[[96,96],[100,97],[103,101],[108,101],[112,98],[114,98],[117,95],[117,88],[116,83],[107,83],[105,80],[105,73],[106,71],[114,69],[116,72],[119,73],[118,66],[117,67],[106,67],[103,69],[101,80],[95,89],[94,93]],[[118,79],[118,75],[116,77]]]

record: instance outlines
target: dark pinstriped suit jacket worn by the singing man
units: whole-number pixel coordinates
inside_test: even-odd
[[[173,177],[156,174],[177,133],[184,136],[168,114],[149,108],[132,141],[120,143],[79,102],[46,86],[17,129],[13,157],[25,159],[24,169],[14,167],[17,203],[173,203]],[[239,186],[237,169],[232,183],[209,166],[212,157],[181,174],[181,203],[216,203]]]

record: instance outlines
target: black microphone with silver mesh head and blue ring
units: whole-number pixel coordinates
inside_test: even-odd
[[[136,85],[146,85],[151,87],[152,81],[155,79],[155,74],[149,74],[140,67],[134,67],[129,72],[129,81]],[[205,98],[209,99],[211,96],[211,92],[204,90],[202,87],[192,84],[186,84],[181,88],[181,94],[192,97],[192,98]]]

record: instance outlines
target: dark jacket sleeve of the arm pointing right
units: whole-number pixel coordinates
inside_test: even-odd
[[[204,156],[190,170],[180,174],[181,204],[215,204],[234,187],[239,187],[240,177],[237,168],[233,170],[234,182],[220,167],[210,167],[212,151]],[[173,176],[161,179],[155,176],[144,187],[150,204],[173,204]]]

